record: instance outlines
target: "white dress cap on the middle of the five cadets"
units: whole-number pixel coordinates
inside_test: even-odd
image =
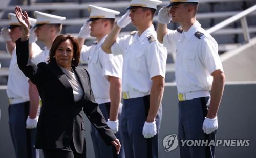
[[[90,12],[90,17],[88,21],[93,21],[98,18],[115,19],[115,15],[120,14],[120,12],[118,11],[108,9],[108,8],[98,7],[94,5],[89,5],[88,10]]]

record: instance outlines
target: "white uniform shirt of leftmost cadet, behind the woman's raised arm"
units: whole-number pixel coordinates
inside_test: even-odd
[[[40,47],[32,44],[34,51],[40,51]],[[22,99],[23,102],[29,101],[28,78],[19,69],[17,64],[16,47],[12,51],[12,59],[9,66],[9,77],[7,82],[7,95],[9,98]]]

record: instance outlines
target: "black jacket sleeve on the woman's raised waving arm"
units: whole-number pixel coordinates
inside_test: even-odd
[[[41,70],[29,60],[29,40],[16,41],[16,54],[18,67],[34,84],[39,84],[41,80]],[[42,64],[38,64],[42,65]],[[39,66],[40,67],[40,66]]]

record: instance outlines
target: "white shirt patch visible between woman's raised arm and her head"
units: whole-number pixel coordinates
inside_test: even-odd
[[[35,65],[41,62],[47,62],[49,60],[49,52],[50,50],[47,49],[46,47],[42,50],[34,51],[31,58],[31,62],[34,63]]]

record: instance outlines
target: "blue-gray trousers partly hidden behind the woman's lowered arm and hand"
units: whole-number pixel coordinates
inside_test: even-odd
[[[104,118],[106,120],[109,119],[109,114],[110,114],[110,102],[108,103],[103,103],[99,104],[99,109],[101,110]],[[95,158],[124,158],[124,149],[123,149],[123,144],[121,140],[121,127],[120,127],[120,115],[121,112],[119,111],[118,114],[118,120],[119,120],[119,131],[115,134],[117,139],[119,139],[121,143],[121,150],[119,152],[119,155],[116,154],[116,148],[111,145],[107,146],[105,142],[102,140],[100,137],[98,131],[94,128],[93,125],[91,125],[91,137],[92,137],[92,142],[93,142],[93,148],[94,148],[94,154]]]

